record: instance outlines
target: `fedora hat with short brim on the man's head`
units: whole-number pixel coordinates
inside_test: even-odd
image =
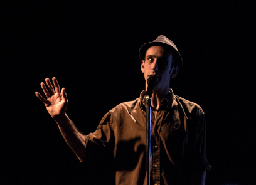
[[[166,50],[171,51],[171,53],[173,53],[174,55],[174,58],[176,59],[176,66],[178,66],[179,68],[182,67],[183,60],[181,58],[181,54],[179,54],[176,45],[174,45],[173,41],[169,40],[164,35],[158,36],[156,40],[149,43],[145,43],[141,46],[141,48],[139,48],[139,58],[141,60],[144,60],[147,49],[152,46],[163,46],[164,48],[166,48]]]

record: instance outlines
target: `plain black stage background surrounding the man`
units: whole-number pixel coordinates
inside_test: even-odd
[[[80,164],[35,92],[56,77],[69,117],[93,132],[108,110],[139,97],[138,50],[160,34],[183,56],[174,93],[206,114],[206,184],[254,184],[252,2],[2,2],[0,184],[108,184],[109,166]]]

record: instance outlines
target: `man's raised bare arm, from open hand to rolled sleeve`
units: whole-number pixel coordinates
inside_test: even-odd
[[[36,92],[36,96],[45,104],[48,113],[58,124],[61,135],[72,151],[75,152],[78,159],[82,161],[85,156],[85,137],[78,132],[72,120],[70,120],[66,114],[68,98],[65,88],[62,88],[60,92],[60,86],[58,85],[56,78],[53,78],[54,88],[51,85],[49,78],[46,78],[45,82],[49,90],[47,90],[45,83],[43,82],[41,83],[41,88],[47,99],[42,97],[38,92]]]

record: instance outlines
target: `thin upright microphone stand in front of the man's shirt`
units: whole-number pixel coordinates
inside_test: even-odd
[[[149,90],[147,88],[147,90]],[[147,185],[150,185],[150,156],[151,156],[151,97],[152,92],[146,92],[146,128],[147,128]]]

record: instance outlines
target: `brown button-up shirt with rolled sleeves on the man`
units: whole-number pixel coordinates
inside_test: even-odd
[[[146,185],[145,93],[110,110],[97,130],[85,136],[84,161],[95,151],[112,156],[115,184]],[[205,114],[171,89],[156,117],[151,112],[151,139],[151,184],[181,184],[189,174],[210,169],[205,157]]]

